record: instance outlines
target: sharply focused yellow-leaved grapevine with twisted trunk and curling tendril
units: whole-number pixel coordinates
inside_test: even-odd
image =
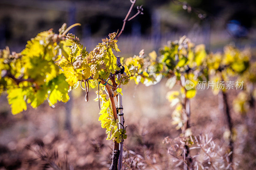
[[[132,2],[126,18],[135,2],[136,0]],[[143,14],[141,7],[138,11]],[[120,62],[120,67],[117,66],[117,58],[113,53],[113,51],[120,52],[116,44],[117,33],[110,33],[108,38],[102,39],[101,43],[88,52],[78,37],[68,33],[77,25],[80,24],[66,28],[66,24],[63,24],[59,34],[54,33],[52,29],[39,33],[28,41],[26,48],[20,53],[10,53],[8,47],[1,50],[0,94],[7,92],[12,114],[15,115],[27,110],[27,104],[37,108],[45,100],[51,107],[54,107],[58,101],[67,102],[68,92],[77,88],[79,84],[82,85],[82,82],[86,91],[85,101],[88,101],[89,87],[93,89],[98,86],[94,101],[98,101],[101,108],[99,121],[101,127],[106,129],[106,140],[114,141],[110,169],[117,169],[118,144],[123,142],[127,135],[126,127],[118,121],[114,97],[118,100],[117,96],[122,95],[122,89],[119,87],[121,84],[127,84],[130,76],[128,73],[117,79],[116,75],[120,74],[120,67],[123,68],[121,71],[123,74],[124,68],[127,69],[129,66],[122,66]],[[121,33],[122,31],[118,36]],[[108,81],[111,81],[112,85]],[[116,81],[119,81],[119,84]],[[104,91],[107,94],[104,94]],[[122,163],[122,157],[120,161]]]

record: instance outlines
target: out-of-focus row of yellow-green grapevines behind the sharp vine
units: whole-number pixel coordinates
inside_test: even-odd
[[[233,109],[242,114],[250,110],[255,110],[255,63],[251,62],[251,54],[249,49],[239,50],[233,45],[224,47],[223,53],[212,53],[205,50],[203,44],[194,45],[188,38],[183,36],[179,41],[170,41],[168,45],[160,49],[161,56],[149,60],[153,69],[153,78],[156,80],[156,75],[161,75],[155,83],[161,81],[161,78],[167,77],[166,86],[170,89],[174,85],[180,85],[179,91],[170,91],[166,98],[171,102],[171,107],[175,107],[172,113],[173,124],[177,124],[176,129],[182,129],[181,137],[185,140],[183,148],[184,166],[183,168],[193,167],[194,160],[189,155],[189,147],[191,146],[192,131],[189,124],[190,118],[190,99],[196,96],[197,84],[202,82],[210,82],[215,86],[212,87],[213,94],[220,93],[223,97],[224,115],[227,117],[227,126],[230,132],[228,137],[228,162],[233,161],[233,143],[235,140],[235,129],[231,119],[231,111],[228,106],[228,88],[218,89],[216,85],[220,81],[226,82],[233,80],[237,82],[237,86],[242,85],[242,91],[239,92],[237,98],[233,101]],[[138,57],[138,56],[137,56]],[[139,59],[140,57],[138,57]],[[127,65],[132,63],[136,57],[126,59]],[[137,63],[140,60],[137,59]],[[151,58],[152,59],[152,58]],[[130,61],[130,62],[129,62]],[[143,62],[146,63],[146,62]],[[150,68],[150,64],[147,68]],[[138,67],[140,69],[140,67]],[[156,69],[158,68],[158,69]],[[150,69],[149,69],[150,70]],[[132,74],[135,82],[142,80],[142,83],[148,84],[143,74]],[[194,84],[194,88],[187,86],[187,81]],[[244,83],[243,84],[241,83]],[[253,113],[252,113],[253,114]],[[248,127],[250,129],[250,127]],[[192,142],[193,143],[193,142]]]

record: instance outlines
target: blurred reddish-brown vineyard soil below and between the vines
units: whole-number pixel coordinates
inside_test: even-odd
[[[164,82],[164,81],[163,81]],[[178,87],[176,87],[178,89]],[[175,88],[174,88],[175,89]],[[172,166],[171,157],[167,154],[167,146],[162,144],[164,137],[177,137],[179,131],[172,125],[169,102],[165,99],[169,91],[164,83],[144,87],[128,85],[123,88],[125,124],[128,124],[125,140],[125,151],[136,151],[140,164],[146,169],[168,169]],[[83,94],[83,95],[81,95]],[[125,95],[131,94],[131,95]],[[136,96],[136,98],[133,97]],[[236,96],[235,90],[229,91],[230,99]],[[52,154],[57,148],[59,160],[64,160],[68,153],[68,162],[75,169],[108,169],[112,152],[112,142],[105,140],[105,131],[98,122],[96,97],[91,90],[89,102],[84,102],[84,92],[76,90],[72,93],[71,123],[73,133],[64,130],[65,104],[57,103],[55,109],[48,103],[39,106],[37,110],[28,107],[22,114],[13,116],[10,112],[6,96],[0,98],[0,169],[27,169],[27,159],[36,158],[31,151],[24,149],[26,144],[32,144],[40,138],[46,151]],[[232,101],[229,101],[232,104]],[[129,107],[130,106],[130,107]],[[132,106],[132,107],[131,107]],[[225,132],[225,117],[218,107],[218,95],[211,90],[200,90],[195,99],[191,100],[191,127],[194,134],[213,134],[216,143],[227,145],[223,138]],[[255,141],[247,144],[247,134],[242,125],[244,117],[232,111],[236,128],[235,161],[240,161],[241,169],[250,169],[255,165],[252,155]],[[228,127],[226,127],[228,128]],[[246,148],[246,149],[244,149]],[[250,156],[251,155],[251,156]],[[130,154],[132,156],[132,154]],[[126,162],[129,164],[129,162]],[[124,164],[125,165],[125,164]],[[40,169],[31,165],[29,169]]]

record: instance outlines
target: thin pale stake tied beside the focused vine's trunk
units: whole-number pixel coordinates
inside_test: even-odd
[[[116,57],[117,61],[117,65],[120,66],[121,63],[120,63],[120,57]],[[117,74],[117,79],[120,80],[121,79],[121,73],[118,73]],[[121,88],[121,84],[119,85],[119,88]],[[123,104],[122,104],[122,95],[118,93],[118,96],[117,96],[117,99],[118,99],[118,128],[119,129],[123,129],[123,120],[124,120],[124,116],[123,116],[123,109],[119,109],[119,108],[122,108]],[[123,145],[124,143],[121,141],[119,143],[119,158],[118,158],[118,170],[122,170],[122,161],[123,161]]]

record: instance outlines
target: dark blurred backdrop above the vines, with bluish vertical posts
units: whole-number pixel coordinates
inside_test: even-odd
[[[153,48],[182,35],[191,36],[196,43],[203,42],[208,48],[223,43],[220,40],[255,38],[256,2],[253,0],[138,0],[132,14],[137,12],[136,6],[142,4],[144,15],[127,22],[123,36],[137,37],[136,41],[153,39],[156,41],[151,45]],[[190,12],[184,10],[185,4],[192,7]],[[81,27],[70,32],[76,33],[85,46],[92,48],[94,39],[100,41],[108,33],[122,28],[130,5],[129,0],[1,0],[0,48],[8,45],[13,51],[20,51],[37,33],[50,28],[58,32],[63,23],[81,23]],[[205,18],[199,18],[200,14]],[[216,40],[215,34],[221,37],[220,40]],[[129,43],[124,48],[128,46]],[[129,54],[126,49],[123,52]],[[130,54],[132,52],[138,53],[139,48]]]

